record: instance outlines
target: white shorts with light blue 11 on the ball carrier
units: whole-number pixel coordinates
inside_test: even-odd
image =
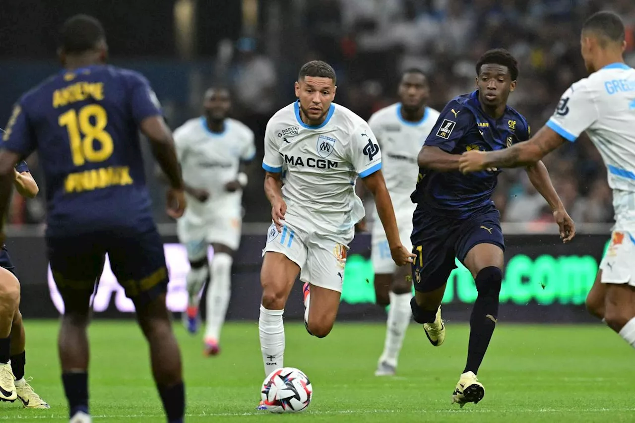
[[[344,239],[352,239],[353,229],[350,232],[350,238],[346,234]],[[284,254],[300,266],[300,281],[342,292],[348,250],[348,245],[315,231],[305,232],[286,224],[282,232],[278,232],[276,225],[272,224],[267,231],[267,244],[262,256],[267,252]]]

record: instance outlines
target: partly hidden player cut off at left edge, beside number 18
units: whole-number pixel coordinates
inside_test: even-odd
[[[25,161],[13,171],[13,185],[18,193],[35,198],[39,188]],[[20,281],[6,245],[0,249],[0,400],[22,401],[25,408],[50,408],[24,379],[26,335],[20,313]],[[6,270],[6,271],[5,271]]]

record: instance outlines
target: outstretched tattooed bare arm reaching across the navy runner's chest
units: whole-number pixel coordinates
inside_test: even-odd
[[[459,158],[459,170],[471,173],[487,168],[516,168],[530,166],[565,143],[565,138],[547,126],[528,141],[497,151],[466,151]]]

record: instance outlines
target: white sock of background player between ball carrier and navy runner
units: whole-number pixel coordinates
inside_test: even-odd
[[[397,294],[389,293],[391,299],[391,308],[388,311],[388,321],[386,325],[386,340],[384,344],[384,352],[379,358],[380,363],[385,361],[392,366],[397,366],[399,359],[399,351],[403,345],[403,339],[406,335],[412,311],[410,309],[411,293]]]

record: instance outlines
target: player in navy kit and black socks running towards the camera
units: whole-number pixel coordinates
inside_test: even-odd
[[[433,346],[440,346],[445,339],[440,304],[448,276],[456,267],[455,257],[469,269],[478,291],[470,317],[467,363],[452,396],[461,406],[478,403],[485,395],[476,374],[497,323],[505,243],[500,213],[491,201],[500,170],[488,166],[463,175],[458,161],[464,151],[506,149],[530,137],[525,117],[507,105],[516,88],[516,59],[507,50],[487,51],[476,64],[476,75],[478,89],[451,100],[425,140],[418,157],[419,182],[412,194],[417,210],[411,241],[417,258],[411,308]],[[544,164],[533,163],[526,171],[531,184],[551,206],[561,232],[570,232],[565,238],[569,241],[574,234],[573,221]]]

